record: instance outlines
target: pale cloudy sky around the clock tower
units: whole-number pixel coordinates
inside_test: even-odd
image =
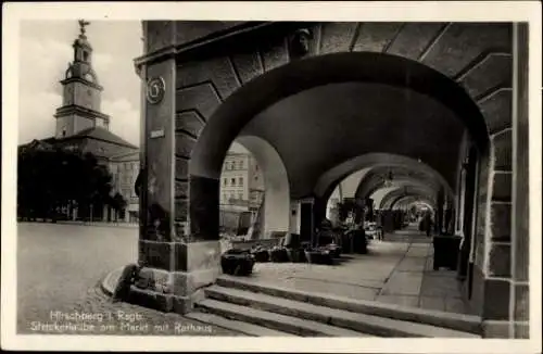
[[[110,130],[140,146],[140,79],[134,59],[142,55],[139,21],[92,21],[87,26],[92,67],[104,90],[101,111],[111,116]],[[18,143],[54,135],[53,114],[62,104],[62,85],[72,62],[77,20],[23,21],[20,41]],[[233,151],[244,149],[235,143]]]

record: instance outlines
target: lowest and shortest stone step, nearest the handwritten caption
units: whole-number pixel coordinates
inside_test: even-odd
[[[200,313],[192,312],[186,314],[185,317],[192,318],[199,320],[204,324],[210,324],[217,327],[223,327],[226,329],[231,329],[233,331],[253,336],[253,337],[296,337],[292,333],[278,331],[275,329],[270,329],[267,327],[256,326],[249,323],[242,323],[239,320],[228,319],[226,317],[209,314],[209,313]]]

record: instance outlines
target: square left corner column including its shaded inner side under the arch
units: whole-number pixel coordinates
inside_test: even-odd
[[[146,51],[175,45],[175,22],[143,22]],[[139,67],[142,81],[139,280],[129,302],[187,313],[219,274],[218,179],[189,178],[197,137],[178,113],[175,58]],[[190,190],[190,193],[189,193]],[[190,197],[189,197],[190,195]],[[190,212],[189,212],[190,211]]]

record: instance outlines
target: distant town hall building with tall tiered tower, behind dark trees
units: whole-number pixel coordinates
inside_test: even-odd
[[[81,153],[92,153],[99,163],[106,165],[113,174],[115,182],[112,192],[118,191],[125,197],[127,215],[123,215],[122,219],[135,220],[138,212],[134,205],[138,202],[135,200],[134,180],[139,169],[139,150],[138,147],[110,131],[110,116],[101,112],[103,87],[100,86],[98,75],[92,68],[92,47],[85,35],[85,23],[80,25],[80,34],[72,46],[74,60],[68,63],[64,78],[60,81],[63,102],[54,114],[55,134],[53,137],[20,146],[20,151],[62,147]],[[70,207],[67,213],[72,219],[90,216],[89,211],[83,212]],[[92,219],[104,222],[115,219],[115,212],[111,207],[93,210],[90,214]]]

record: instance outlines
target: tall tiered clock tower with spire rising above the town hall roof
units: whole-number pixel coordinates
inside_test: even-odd
[[[74,61],[68,64],[63,86],[62,106],[56,110],[55,138],[62,139],[81,130],[110,128],[110,117],[100,112],[102,86],[92,68],[92,47],[85,35],[89,22],[79,21],[79,37],[74,41]]]

